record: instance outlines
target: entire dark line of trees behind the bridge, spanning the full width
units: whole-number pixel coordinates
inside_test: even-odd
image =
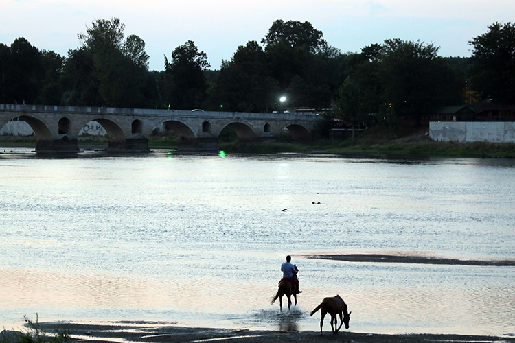
[[[413,123],[438,106],[474,100],[515,103],[515,25],[494,23],[472,38],[472,57],[443,58],[438,47],[388,39],[343,54],[308,22],[277,20],[258,43],[238,47],[210,70],[194,42],[150,71],[145,42],[117,18],[78,34],[67,56],[25,38],[0,43],[0,103],[189,110],[333,108],[345,122]],[[286,96],[286,102],[279,97]],[[473,95],[473,96],[472,96]]]

